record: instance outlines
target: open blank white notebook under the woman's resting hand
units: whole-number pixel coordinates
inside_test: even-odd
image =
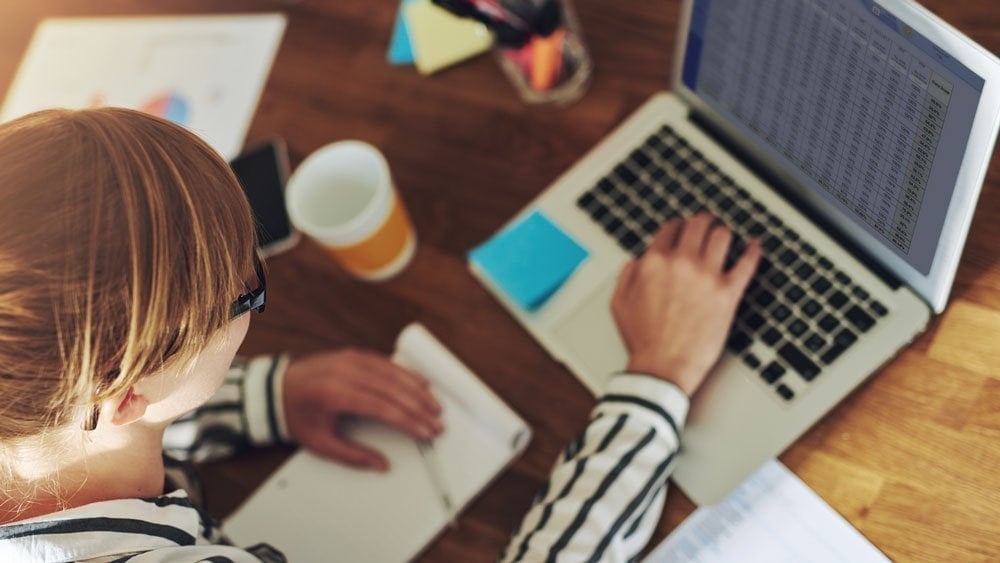
[[[525,421],[419,324],[396,341],[393,361],[431,380],[445,431],[434,450],[460,512],[531,439]],[[456,516],[409,436],[357,422],[351,438],[381,451],[388,473],[352,469],[304,450],[281,466],[225,523],[240,546],[268,543],[289,561],[407,561]]]

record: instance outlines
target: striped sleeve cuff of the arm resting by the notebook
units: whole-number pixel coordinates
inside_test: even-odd
[[[287,356],[237,358],[215,395],[177,419],[163,436],[163,448],[191,461],[230,457],[248,445],[291,441],[285,424],[282,385]]]

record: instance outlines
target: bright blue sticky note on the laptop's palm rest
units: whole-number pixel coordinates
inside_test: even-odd
[[[469,259],[511,299],[535,311],[573,275],[589,252],[539,211],[469,253]]]

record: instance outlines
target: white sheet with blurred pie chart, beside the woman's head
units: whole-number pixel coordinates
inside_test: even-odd
[[[54,107],[140,109],[188,127],[231,159],[284,29],[281,14],[45,20],[0,121]]]

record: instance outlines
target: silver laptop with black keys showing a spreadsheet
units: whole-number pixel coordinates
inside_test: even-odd
[[[626,364],[609,303],[665,220],[765,248],[674,472],[714,503],[947,302],[1000,124],[1000,60],[905,0],[687,0],[653,96],[540,210],[591,255],[536,312],[474,273],[594,393]]]

